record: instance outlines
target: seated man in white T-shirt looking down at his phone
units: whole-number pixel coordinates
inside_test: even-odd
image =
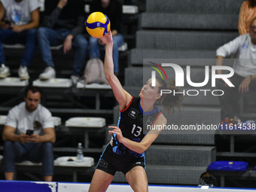
[[[52,116],[40,104],[41,90],[38,87],[26,87],[24,99],[25,102],[11,108],[5,121],[5,178],[14,179],[15,162],[30,160],[41,162],[44,181],[52,181],[53,143],[56,140]]]

